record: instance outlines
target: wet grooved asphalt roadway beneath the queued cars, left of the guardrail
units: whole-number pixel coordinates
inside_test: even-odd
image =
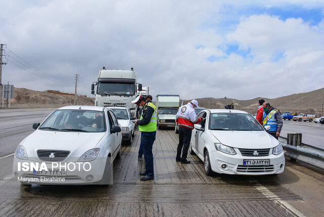
[[[18,111],[16,111],[18,112]],[[21,186],[12,174],[13,153],[32,123],[51,111],[21,118],[0,111],[0,215],[73,216],[322,216],[324,175],[286,161],[285,172],[267,176],[207,176],[203,163],[175,162],[177,134],[158,130],[153,146],[154,180],[141,182],[140,133],[114,162],[114,185]],[[5,121],[4,121],[5,120]],[[26,122],[25,122],[26,121]],[[41,120],[40,120],[41,121]],[[21,124],[19,124],[19,122]],[[13,129],[15,128],[15,129]]]

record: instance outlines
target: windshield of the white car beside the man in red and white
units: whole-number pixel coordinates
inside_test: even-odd
[[[262,131],[263,127],[250,114],[213,113],[209,118],[210,130]]]

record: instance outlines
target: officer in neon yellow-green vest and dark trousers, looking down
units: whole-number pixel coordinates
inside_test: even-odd
[[[139,125],[138,129],[141,131],[141,143],[145,159],[145,172],[141,172],[141,180],[154,179],[154,164],[153,164],[153,143],[156,135],[156,122],[157,122],[157,108],[151,101],[152,97],[146,98],[140,96],[136,104],[143,106],[143,112],[140,120],[136,120],[135,124]]]

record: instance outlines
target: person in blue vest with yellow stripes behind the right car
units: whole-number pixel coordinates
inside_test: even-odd
[[[270,126],[270,130],[268,133],[278,139],[280,135],[280,131],[282,128],[282,120],[281,114],[279,110],[270,106],[269,102],[263,102],[263,117],[262,117],[262,125]]]

